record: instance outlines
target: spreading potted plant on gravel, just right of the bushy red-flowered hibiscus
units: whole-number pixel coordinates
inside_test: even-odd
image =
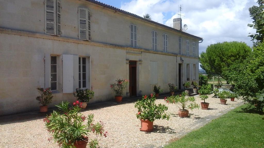
[[[169,104],[175,104],[179,108],[178,114],[180,117],[188,117],[189,111],[186,108],[190,110],[199,108],[195,98],[186,97],[186,92],[182,92],[181,95],[165,97],[164,100]]]

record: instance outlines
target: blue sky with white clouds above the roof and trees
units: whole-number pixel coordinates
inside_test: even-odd
[[[242,41],[253,45],[249,33],[256,30],[247,26],[252,23],[248,8],[257,6],[257,0],[98,0],[102,3],[142,16],[149,13],[152,20],[172,26],[182,6],[182,25],[187,33],[202,37],[199,53],[206,47],[224,41]],[[199,69],[200,66],[199,66]]]

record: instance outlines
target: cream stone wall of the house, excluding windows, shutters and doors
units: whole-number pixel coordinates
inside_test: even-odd
[[[169,92],[167,82],[164,83],[164,62],[168,63],[168,82],[178,86],[181,57],[184,59],[182,83],[187,81],[187,63],[190,64],[190,82],[198,82],[199,39],[84,0],[62,0],[62,37],[46,35],[43,2],[0,0],[0,115],[39,109],[36,88],[50,86],[47,83],[50,73],[45,73],[50,65],[45,66],[44,61],[45,56],[45,60],[50,60],[50,55],[56,55],[58,62],[58,91],[53,93],[50,107],[63,100],[76,99],[72,93],[63,93],[63,55],[91,60],[90,89],[95,97],[89,103],[114,99],[109,84],[117,78],[129,79],[129,60],[137,61],[138,96],[152,93],[154,85],[161,85],[164,93]],[[78,40],[78,7],[91,11],[92,42]],[[138,48],[130,48],[130,24],[138,27]],[[151,49],[152,30],[158,33],[157,52]],[[168,53],[163,53],[163,33],[168,34]],[[182,37],[183,55],[177,55],[179,37]],[[190,40],[190,56],[185,55],[186,39]],[[192,42],[196,42],[196,57],[192,57]],[[153,85],[150,85],[150,61],[158,63],[158,83]],[[196,78],[193,64],[196,64]],[[128,88],[123,96],[129,96]]]

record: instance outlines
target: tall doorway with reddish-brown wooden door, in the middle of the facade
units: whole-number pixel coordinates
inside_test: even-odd
[[[136,96],[136,61],[129,61],[129,95]]]

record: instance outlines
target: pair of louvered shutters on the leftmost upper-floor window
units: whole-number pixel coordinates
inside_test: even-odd
[[[45,0],[45,33],[61,36],[61,2],[59,0]]]

